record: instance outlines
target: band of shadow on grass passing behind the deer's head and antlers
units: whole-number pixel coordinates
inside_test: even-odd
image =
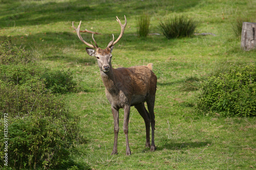
[[[72,23],[70,23],[70,27]],[[118,37],[118,33],[115,33],[115,37]],[[92,34],[89,33],[82,33],[81,36],[83,37],[84,40],[87,42],[92,41]],[[96,39],[99,47],[105,48],[108,43],[112,40],[112,35],[110,34],[101,34],[101,35],[95,35],[94,38]],[[138,37],[134,36],[129,36],[129,35],[124,35],[122,37],[121,43],[123,45],[116,45],[115,49],[117,48],[122,48],[123,50],[127,50],[133,53],[141,52],[141,51],[158,51],[158,48],[151,48],[151,46],[154,46],[153,39],[158,41],[161,39],[161,46],[167,46],[169,45],[168,43],[164,43],[167,40],[162,39],[163,37],[154,37],[151,39],[148,39],[146,41],[143,41],[143,45],[134,45],[141,43],[141,40]],[[75,50],[75,48],[78,51],[84,52],[86,54],[86,47],[84,43],[82,43],[76,33],[73,32],[73,28],[70,28],[69,31],[64,31],[64,32],[39,32],[35,34],[20,34],[20,35],[15,35],[15,36],[0,36],[0,41],[5,41],[5,40],[10,40],[11,42],[15,43],[16,45],[23,45],[26,46],[27,48],[36,48],[36,50],[42,50],[48,54],[67,54],[72,53],[72,50]],[[66,48],[66,51],[63,51],[63,49]],[[73,48],[73,49],[72,49]],[[67,51],[68,50],[68,51]],[[86,56],[86,55],[84,55]],[[53,57],[55,58],[55,57]],[[89,62],[92,62],[92,58],[89,59]]]

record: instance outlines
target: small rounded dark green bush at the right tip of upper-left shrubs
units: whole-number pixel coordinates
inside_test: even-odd
[[[77,83],[73,80],[71,72],[49,70],[41,76],[45,79],[46,88],[55,93],[67,93],[76,89]]]

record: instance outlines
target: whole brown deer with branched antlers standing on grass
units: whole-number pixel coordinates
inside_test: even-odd
[[[146,144],[145,147],[150,148],[150,151],[156,150],[155,145],[155,95],[157,88],[157,77],[152,71],[153,64],[149,63],[146,66],[132,66],[129,68],[113,68],[111,65],[112,51],[114,45],[122,38],[125,26],[127,24],[126,17],[124,15],[125,23],[122,25],[119,18],[116,16],[116,20],[121,27],[121,33],[119,37],[114,41],[110,41],[105,49],[98,47],[93,34],[92,39],[95,45],[84,41],[80,35],[81,21],[77,28],[74,27],[74,21],[72,27],[77,33],[78,38],[89,47],[86,47],[86,52],[89,56],[95,57],[100,69],[100,76],[105,86],[105,95],[111,104],[111,110],[114,118],[114,146],[111,155],[117,154],[117,138],[119,133],[119,109],[124,110],[123,118],[123,132],[126,141],[126,155],[131,155],[128,139],[128,124],[130,117],[131,106],[134,106],[139,114],[144,119],[146,128]],[[145,108],[145,103],[147,109]],[[150,125],[152,131],[152,142],[150,145]]]

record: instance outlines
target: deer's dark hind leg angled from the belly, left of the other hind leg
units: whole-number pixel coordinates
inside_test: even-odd
[[[147,112],[144,103],[140,103],[134,106],[138,112],[140,113],[141,117],[144,119],[145,126],[146,126],[146,147],[150,147],[150,114]]]

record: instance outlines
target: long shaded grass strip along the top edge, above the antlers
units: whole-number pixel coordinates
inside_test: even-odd
[[[3,0],[3,10],[0,12],[0,27],[41,25],[59,21],[71,20],[108,20],[124,14],[139,15],[145,10],[184,11],[196,6],[200,1],[175,2],[141,2],[141,1],[92,1],[90,4],[82,0],[72,2],[44,1],[6,1]],[[1,7],[1,6],[0,6]],[[157,8],[156,8],[157,7]]]

